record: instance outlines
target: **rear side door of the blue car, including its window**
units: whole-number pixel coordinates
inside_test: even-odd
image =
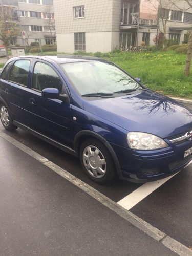
[[[8,64],[9,65],[9,64]],[[27,119],[26,105],[28,102],[28,74],[30,59],[16,60],[4,80],[1,77],[3,98],[9,106],[15,120]]]

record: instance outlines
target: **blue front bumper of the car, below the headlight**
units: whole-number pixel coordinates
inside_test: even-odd
[[[132,182],[148,182],[178,173],[191,160],[192,154],[184,158],[184,152],[192,147],[192,141],[153,151],[136,151],[110,143],[120,164],[120,179]],[[172,146],[170,146],[172,145]]]

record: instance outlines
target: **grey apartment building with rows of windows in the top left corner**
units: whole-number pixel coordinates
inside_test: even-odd
[[[13,7],[13,19],[25,32],[25,39],[18,36],[11,44],[30,45],[41,39],[45,45],[50,44],[51,38],[56,41],[53,0],[1,0],[0,4]]]

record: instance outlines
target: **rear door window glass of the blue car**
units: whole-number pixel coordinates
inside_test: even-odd
[[[10,71],[9,80],[27,87],[30,60],[17,60]]]

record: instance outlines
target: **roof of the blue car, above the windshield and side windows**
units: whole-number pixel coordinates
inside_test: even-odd
[[[106,59],[97,58],[93,56],[80,56],[80,55],[28,55],[28,56],[19,56],[16,58],[37,58],[37,59],[50,59],[59,64],[71,63],[71,62],[81,62],[81,61],[108,61]]]

